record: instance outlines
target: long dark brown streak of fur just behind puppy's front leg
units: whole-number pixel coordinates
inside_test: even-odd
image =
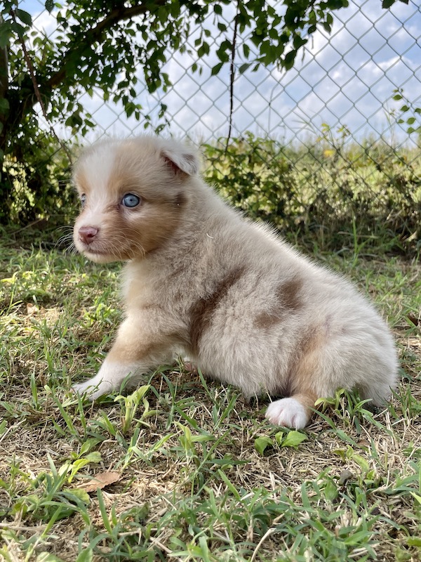
[[[233,269],[215,287],[213,293],[199,299],[190,310],[190,346],[193,353],[198,353],[199,343],[203,332],[206,332],[213,317],[213,313],[220,302],[229,292],[229,289],[240,279],[244,268]]]

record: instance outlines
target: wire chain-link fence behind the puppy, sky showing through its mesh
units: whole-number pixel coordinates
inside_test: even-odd
[[[46,11],[34,15],[35,27],[55,32]],[[231,30],[234,15],[235,5],[227,6]],[[201,145],[206,177],[234,204],[281,229],[305,225],[321,238],[327,230],[347,230],[355,241],[365,216],[371,226],[361,236],[375,238],[376,225],[386,223],[393,235],[418,240],[419,3],[397,2],[385,10],[380,1],[351,0],[335,12],[332,32],[316,32],[288,71],[245,70],[239,49],[231,69],[225,65],[212,75],[218,63],[213,37],[219,34],[212,18],[205,23],[215,34],[195,72],[202,26],[193,30],[187,51],[166,63],[173,86],[150,94],[139,71],[136,101],[148,124]],[[144,120],[127,117],[98,91],[80,102],[95,123],[83,142],[145,131]],[[65,128],[55,131],[69,138]]]

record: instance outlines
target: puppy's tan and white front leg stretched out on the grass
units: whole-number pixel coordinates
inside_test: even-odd
[[[103,394],[120,388],[126,377],[143,374],[166,362],[168,349],[162,345],[162,338],[161,345],[156,344],[156,341],[159,339],[140,328],[138,322],[125,320],[95,377],[74,384],[72,390],[79,394],[86,393],[90,400],[96,400]]]

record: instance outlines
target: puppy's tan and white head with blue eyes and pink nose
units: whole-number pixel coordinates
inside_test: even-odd
[[[142,136],[95,143],[74,169],[82,205],[76,248],[106,263],[161,247],[180,226],[198,171],[196,152],[177,141]]]

